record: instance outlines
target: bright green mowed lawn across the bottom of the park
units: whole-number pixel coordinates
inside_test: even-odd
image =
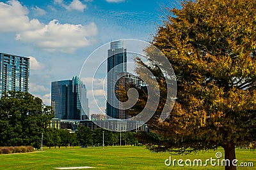
[[[216,159],[215,153],[222,149],[209,152],[191,153],[189,155],[172,155],[173,159]],[[237,167],[237,169],[256,169],[256,152],[236,150],[240,162],[253,162],[254,167]],[[165,166],[164,160],[169,153],[153,153],[144,146],[108,146],[88,148],[44,148],[33,153],[17,153],[0,155],[0,169],[55,169],[56,167],[90,166],[94,169],[225,169],[221,166]],[[184,164],[184,162],[183,162]],[[204,162],[203,162],[204,164]]]

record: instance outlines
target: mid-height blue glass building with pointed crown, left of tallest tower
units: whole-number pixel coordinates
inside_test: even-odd
[[[55,118],[61,120],[88,119],[87,115],[90,110],[86,87],[77,76],[74,76],[72,80],[52,81],[51,104],[55,111]]]

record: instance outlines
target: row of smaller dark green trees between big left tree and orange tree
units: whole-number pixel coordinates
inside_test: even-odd
[[[106,129],[92,131],[83,125],[76,132],[67,129],[45,129],[44,146],[54,148],[60,146],[102,146],[104,131],[104,146],[120,145],[120,132],[112,132]],[[138,145],[135,132],[121,132],[121,145]]]

